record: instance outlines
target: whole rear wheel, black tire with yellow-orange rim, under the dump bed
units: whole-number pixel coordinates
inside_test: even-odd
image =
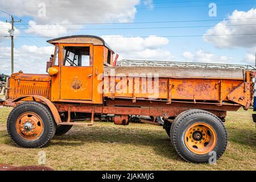
[[[193,163],[207,163],[224,154],[228,135],[221,120],[204,110],[184,111],[175,119],[171,140],[177,154]]]

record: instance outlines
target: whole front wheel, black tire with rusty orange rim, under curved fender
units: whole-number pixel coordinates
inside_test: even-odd
[[[46,105],[23,102],[9,114],[7,131],[16,145],[38,148],[45,146],[55,135],[56,123]]]

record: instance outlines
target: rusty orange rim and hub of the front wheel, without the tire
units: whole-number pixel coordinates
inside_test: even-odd
[[[39,138],[44,130],[42,119],[38,114],[27,112],[23,113],[16,120],[16,131],[20,137],[26,140],[35,140]]]

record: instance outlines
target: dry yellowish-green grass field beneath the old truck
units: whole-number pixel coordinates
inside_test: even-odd
[[[44,148],[16,147],[6,131],[11,108],[0,108],[0,164],[38,165],[45,151],[46,166],[55,170],[256,170],[256,131],[253,111],[229,112],[229,144],[217,164],[192,164],[181,160],[160,126],[130,123],[118,126],[96,122],[74,126]]]

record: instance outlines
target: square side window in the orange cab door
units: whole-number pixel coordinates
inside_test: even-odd
[[[91,67],[90,47],[64,47],[63,65],[66,67]]]

